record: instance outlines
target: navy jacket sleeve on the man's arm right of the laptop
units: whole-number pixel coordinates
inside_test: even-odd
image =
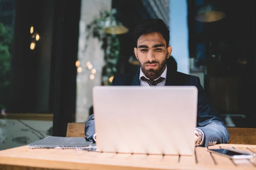
[[[209,104],[199,77],[195,79],[195,86],[198,88],[197,128],[202,130],[205,135],[203,147],[227,143],[229,132],[220,119],[220,115]]]

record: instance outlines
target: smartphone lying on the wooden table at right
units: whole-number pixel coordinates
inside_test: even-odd
[[[237,149],[208,149],[208,152],[226,156],[230,159],[250,159],[255,156],[255,153],[245,152]]]

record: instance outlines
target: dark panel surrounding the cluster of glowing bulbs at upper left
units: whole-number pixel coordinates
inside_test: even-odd
[[[9,113],[49,113],[52,31],[55,1],[15,1]],[[35,3],[37,4],[35,6]],[[30,50],[30,27],[41,39]]]

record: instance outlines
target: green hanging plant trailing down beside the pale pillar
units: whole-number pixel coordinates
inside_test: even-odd
[[[99,17],[95,17],[91,23],[87,25],[87,37],[96,37],[102,41],[102,49],[104,50],[105,66],[102,70],[102,85],[110,85],[109,79],[116,73],[116,63],[119,58],[119,38],[116,34],[108,34],[104,31],[106,22],[116,22],[111,11],[100,12]],[[85,47],[85,49],[87,46]]]

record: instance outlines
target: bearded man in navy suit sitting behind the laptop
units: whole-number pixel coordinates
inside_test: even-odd
[[[218,117],[219,115],[209,105],[199,78],[177,72],[176,68],[173,69],[171,65],[167,64],[166,61],[171,56],[172,47],[169,46],[169,29],[163,20],[143,21],[135,28],[134,37],[137,42],[134,54],[140,62],[140,69],[134,74],[115,77],[112,85],[193,85],[197,87],[198,112],[195,146],[207,147],[227,143],[229,132]],[[88,118],[84,133],[87,139],[96,141],[93,115]]]

